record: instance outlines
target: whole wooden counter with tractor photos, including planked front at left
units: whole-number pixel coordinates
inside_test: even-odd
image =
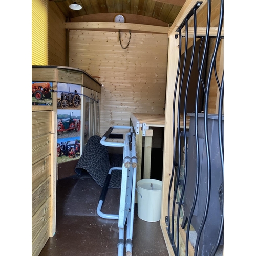
[[[99,135],[100,92],[83,70],[32,66],[32,256],[55,233],[58,160],[79,158]]]

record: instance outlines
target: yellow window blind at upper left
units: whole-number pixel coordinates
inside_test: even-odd
[[[32,0],[32,65],[48,65],[48,0]]]

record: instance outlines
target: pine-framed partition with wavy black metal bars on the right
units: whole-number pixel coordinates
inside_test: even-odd
[[[211,5],[215,5],[212,10]],[[169,37],[169,56],[168,62],[168,77],[166,90],[166,112],[165,112],[165,141],[164,141],[164,172],[163,172],[163,202],[161,227],[163,230],[165,242],[168,247],[170,255],[180,256],[205,256],[215,255],[220,244],[223,243],[223,226],[224,226],[224,144],[223,144],[223,95],[224,95],[224,69],[219,68],[217,71],[217,55],[218,50],[222,52],[224,28],[223,28],[223,11],[224,1],[186,1],[180,14],[177,16],[173,26],[170,28]],[[204,10],[203,15],[200,13]],[[199,15],[201,14],[201,16]],[[201,18],[200,24],[198,22],[199,16]],[[215,20],[212,18],[214,16]],[[202,22],[202,17],[206,17]],[[206,26],[205,26],[206,25]],[[212,46],[212,54],[208,55],[209,42],[214,41]],[[195,45],[198,40],[204,40],[204,46],[201,48],[201,56],[196,56]],[[185,41],[185,44],[184,44]],[[190,44],[190,45],[189,45]],[[189,46],[192,47],[191,58],[187,57]],[[182,51],[184,51],[184,64],[181,66]],[[220,52],[219,52],[220,53]],[[208,57],[208,59],[207,59]],[[189,94],[190,76],[192,75],[191,68],[195,65],[195,59],[198,58],[198,78],[196,84],[195,95]],[[207,62],[207,69],[205,79],[202,75],[203,68]],[[220,64],[220,66],[223,64]],[[185,67],[188,68],[188,76],[184,78]],[[223,68],[223,66],[222,66]],[[217,148],[217,157],[211,152],[211,136],[210,130],[210,115],[209,102],[210,90],[212,84],[217,84],[216,109],[215,117],[217,127],[215,129],[215,146]],[[182,87],[185,89],[184,105],[181,105],[181,91]],[[199,91],[203,91],[203,110],[199,107]],[[190,118],[189,131],[181,131],[181,127],[186,127],[188,119],[187,102],[193,97],[195,101],[194,117]],[[181,106],[184,111],[182,111]],[[203,114],[201,114],[201,111]],[[183,124],[180,118],[183,117]],[[199,121],[201,119],[201,121]],[[201,128],[200,128],[200,125]],[[192,132],[191,127],[194,127]],[[201,129],[201,130],[200,130]],[[193,133],[193,134],[192,134]],[[181,136],[184,136],[184,151],[181,145]],[[190,136],[194,140],[194,166],[191,170],[189,161],[191,147]],[[201,137],[202,136],[202,137]],[[187,138],[189,140],[187,141]],[[216,143],[217,142],[217,143]],[[171,146],[169,146],[171,145]],[[188,147],[187,147],[188,145]],[[203,149],[203,150],[202,150]],[[203,154],[202,154],[203,152]],[[184,172],[181,177],[181,155],[184,154]],[[168,159],[168,157],[170,159]],[[178,159],[178,162],[176,161]],[[202,164],[204,162],[204,164]],[[218,172],[216,172],[216,163],[218,162]],[[193,185],[188,185],[189,175],[194,172]],[[217,175],[216,175],[217,173]],[[202,179],[203,178],[203,179]],[[213,185],[214,179],[218,178],[220,184]],[[202,182],[206,184],[204,187],[205,199],[200,198],[200,189]],[[190,207],[187,208],[185,214],[186,220],[182,221],[183,216],[181,212],[185,209],[186,188],[190,186],[189,191]],[[180,189],[181,187],[181,189]],[[201,188],[200,188],[201,187]],[[214,189],[217,190],[215,191]],[[179,192],[179,197],[178,197]],[[212,216],[216,205],[212,205],[212,196],[217,194],[217,205],[219,208],[218,222],[215,227],[214,236],[210,242],[207,251],[203,250],[204,232],[208,228],[209,218]],[[199,203],[202,203],[201,215],[198,224],[193,220],[197,217],[197,210]],[[196,216],[196,217],[195,217]],[[182,224],[181,224],[182,222]],[[194,225],[194,226],[193,226]],[[167,227],[166,227],[167,226]],[[194,230],[197,232],[195,245],[190,243],[189,234]],[[193,231],[194,231],[193,230]]]

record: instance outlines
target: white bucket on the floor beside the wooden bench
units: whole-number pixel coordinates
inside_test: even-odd
[[[154,179],[142,179],[137,182],[138,216],[141,220],[160,220],[162,185],[162,181]]]

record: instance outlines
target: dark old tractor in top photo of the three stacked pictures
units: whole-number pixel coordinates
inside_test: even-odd
[[[81,98],[77,94],[77,91],[75,90],[74,93],[70,92],[69,93],[61,93],[60,94],[60,99],[57,100],[57,107],[61,109],[67,109],[68,107],[74,107],[78,108],[81,104]]]

